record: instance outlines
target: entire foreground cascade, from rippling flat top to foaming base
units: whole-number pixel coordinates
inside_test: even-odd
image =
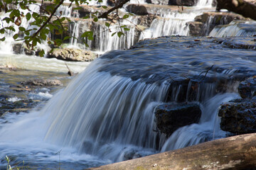
[[[240,98],[240,80],[255,75],[255,50],[219,41],[171,36],[107,52],[41,111],[1,118],[0,157],[13,155],[16,162],[46,169],[58,167],[61,150],[62,168],[71,169],[73,162],[83,169],[225,137],[218,107]],[[200,106],[199,122],[166,138],[154,110],[186,102]]]

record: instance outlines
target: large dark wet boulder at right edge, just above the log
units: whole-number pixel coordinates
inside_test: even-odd
[[[256,132],[256,98],[223,103],[218,111],[220,128],[241,135]]]

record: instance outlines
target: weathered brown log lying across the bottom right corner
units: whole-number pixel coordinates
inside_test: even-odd
[[[96,169],[248,169],[256,167],[256,133],[108,164]]]

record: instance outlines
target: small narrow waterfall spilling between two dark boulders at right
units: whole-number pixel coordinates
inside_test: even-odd
[[[225,137],[220,130],[218,107],[220,103],[239,98],[238,94],[218,94],[201,105],[202,115],[198,124],[187,125],[176,130],[164,143],[161,152],[196,145],[209,140]]]

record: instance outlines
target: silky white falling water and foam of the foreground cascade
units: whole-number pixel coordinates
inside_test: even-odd
[[[38,169],[47,164],[58,168],[61,157],[63,169],[82,169],[225,137],[219,130],[218,106],[238,94],[214,96],[215,86],[201,86],[198,96],[205,99],[200,122],[176,130],[167,140],[156,130],[154,108],[164,103],[170,84],[99,72],[106,62],[109,59],[92,62],[41,111],[2,117],[0,157],[17,157],[16,162],[23,159]]]

